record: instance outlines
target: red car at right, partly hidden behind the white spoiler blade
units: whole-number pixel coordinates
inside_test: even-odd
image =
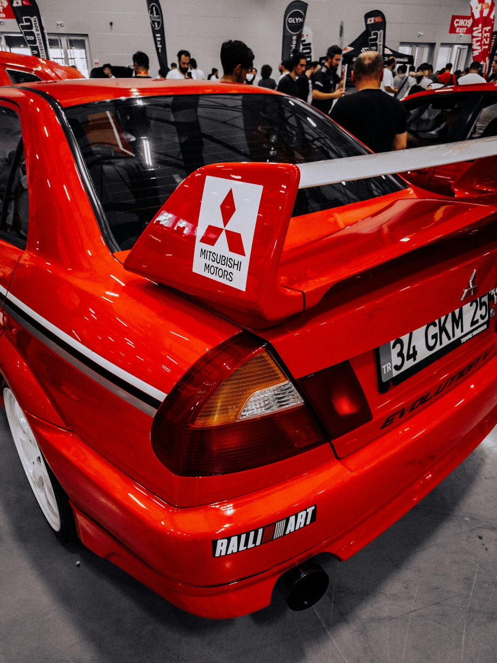
[[[497,83],[439,88],[419,92],[402,100],[408,114],[408,147],[435,146],[457,141],[478,140],[497,136]],[[474,170],[486,171],[482,194],[495,194],[494,176],[497,161],[476,164],[471,161],[443,164],[423,170],[403,172],[412,184],[443,196],[455,196],[458,190],[474,179]],[[460,179],[459,179],[460,178]],[[458,181],[459,179],[459,181]]]

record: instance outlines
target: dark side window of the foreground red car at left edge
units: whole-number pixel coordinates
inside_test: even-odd
[[[21,122],[14,111],[0,107],[0,237],[26,246],[28,187]]]

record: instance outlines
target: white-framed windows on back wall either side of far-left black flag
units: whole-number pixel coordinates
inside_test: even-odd
[[[89,74],[89,41],[85,34],[48,34],[50,60],[78,68],[83,76]],[[9,50],[21,55],[30,55],[21,34],[3,34],[0,38],[1,50]]]

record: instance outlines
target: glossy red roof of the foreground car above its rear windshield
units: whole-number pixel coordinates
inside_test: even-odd
[[[89,80],[40,81],[16,86],[17,90],[23,88],[45,92],[56,99],[62,107],[66,108],[108,99],[152,97],[155,95],[200,93],[274,94],[272,90],[254,88],[244,84],[228,84],[219,81],[166,80],[164,78],[91,78]]]

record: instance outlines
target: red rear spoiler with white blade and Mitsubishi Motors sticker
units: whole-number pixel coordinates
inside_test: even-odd
[[[408,189],[364,202],[362,223],[338,231],[327,229],[323,215],[339,217],[341,208],[317,213],[315,220],[311,215],[293,219],[290,226],[300,188],[495,155],[497,137],[298,166],[204,166],[171,194],[138,237],[124,266],[241,326],[274,326],[315,306],[340,280],[460,231],[490,213],[474,202],[416,198]],[[492,172],[495,178],[497,168]],[[318,216],[323,231],[309,240],[305,230],[318,222]]]

